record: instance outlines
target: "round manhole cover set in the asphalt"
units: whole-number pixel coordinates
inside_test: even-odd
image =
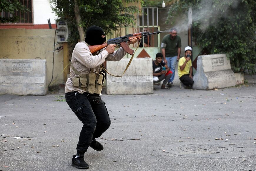
[[[180,146],[179,149],[185,152],[213,154],[213,153],[227,153],[232,152],[234,149],[229,146],[221,146],[215,144],[189,144]]]

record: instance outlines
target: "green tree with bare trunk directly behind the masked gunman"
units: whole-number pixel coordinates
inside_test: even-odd
[[[97,25],[102,27],[106,34],[117,30],[117,26],[129,26],[134,24],[134,13],[137,6],[125,6],[128,3],[139,0],[77,0],[80,9],[81,22],[79,26],[86,31],[87,27]],[[74,0],[50,0],[54,4],[53,11],[58,19],[65,20],[71,31],[69,43],[76,44],[79,39],[77,23],[74,13]]]

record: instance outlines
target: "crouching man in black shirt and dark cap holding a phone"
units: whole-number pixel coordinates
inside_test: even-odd
[[[169,89],[166,84],[171,76],[172,71],[170,71],[166,63],[164,63],[162,53],[157,53],[156,60],[153,61],[153,82],[158,83],[164,79],[161,89]]]

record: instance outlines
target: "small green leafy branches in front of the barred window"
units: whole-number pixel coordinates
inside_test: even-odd
[[[15,11],[28,12],[29,9],[22,5],[18,0],[1,0],[0,1],[0,12],[9,12],[12,17],[0,16],[0,23],[6,22],[18,22],[19,16],[15,16]]]

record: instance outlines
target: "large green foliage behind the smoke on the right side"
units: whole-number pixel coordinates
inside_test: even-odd
[[[255,0],[180,0],[171,6],[169,19],[189,7],[193,39],[203,53],[225,53],[234,72],[256,73]]]

